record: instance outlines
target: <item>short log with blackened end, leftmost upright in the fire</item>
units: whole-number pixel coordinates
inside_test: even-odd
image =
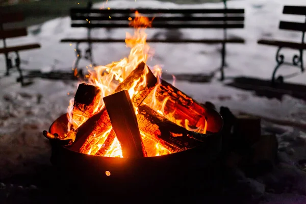
[[[72,125],[77,128],[79,125],[73,121],[86,121],[93,115],[97,106],[95,102],[100,97],[100,89],[88,84],[80,84],[74,96],[72,111]]]

